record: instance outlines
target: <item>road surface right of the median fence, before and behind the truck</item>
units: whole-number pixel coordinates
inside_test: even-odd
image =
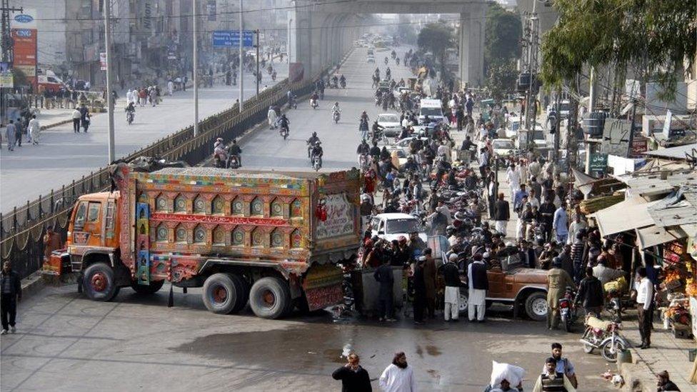
[[[364,59],[363,49],[354,52],[342,67],[349,88],[328,90],[321,109],[302,102],[290,112],[291,139],[276,131],[256,134],[244,146],[245,166],[308,169],[304,139],[311,131],[324,141],[327,170],[353,166],[358,114],[378,114],[370,99],[374,67]],[[393,72],[406,76],[406,69]],[[344,120],[335,126],[329,106],[336,100]],[[18,333],[0,338],[0,389],[339,391],[331,372],[344,363],[344,353],[356,351],[376,379],[393,353],[404,351],[420,391],[482,391],[491,361],[525,368],[530,391],[553,341],[576,366],[581,391],[610,388],[600,378],[606,371],[601,357],[583,353],[581,331],[548,333],[544,323],[513,319],[505,307],[493,306],[483,324],[445,323],[438,313],[413,326],[403,310],[388,324],[327,311],[264,320],[249,309],[236,316],[209,313],[199,289],[184,294],[176,288],[175,307],[167,308],[168,289],[141,297],[123,288],[113,302],[101,303],[76,293],[75,285],[45,288],[20,303]]]

